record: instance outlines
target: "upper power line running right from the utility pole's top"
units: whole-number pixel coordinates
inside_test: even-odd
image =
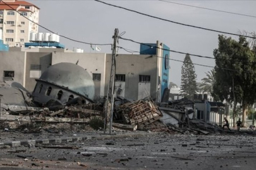
[[[128,39],[128,38],[123,38],[123,37],[119,37],[121,40],[126,40],[126,41],[130,41],[130,42],[133,42],[133,43],[138,43],[138,44],[142,44],[142,45],[147,45],[149,47],[154,47],[154,48],[158,48],[158,49],[161,49],[161,50],[166,50],[166,51],[169,51],[169,52],[174,52],[174,53],[178,53],[178,54],[188,54],[188,55],[191,55],[191,56],[194,56],[194,57],[200,57],[200,58],[205,58],[205,59],[213,59],[213,60],[229,60],[231,62],[241,62],[240,60],[231,60],[231,59],[216,59],[214,57],[207,57],[207,56],[203,56],[203,55],[197,55],[197,54],[189,54],[187,52],[179,52],[179,51],[176,51],[176,50],[169,50],[167,48],[161,48],[161,47],[155,47],[155,46],[152,46],[152,45],[149,45],[149,44],[146,44],[146,43],[140,43],[140,42],[136,42],[135,40],[131,40],[131,39]],[[250,62],[250,61],[245,61],[246,63],[252,63],[252,64],[255,64],[255,62]]]

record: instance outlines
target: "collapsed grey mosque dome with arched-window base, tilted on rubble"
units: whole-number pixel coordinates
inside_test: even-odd
[[[61,103],[83,97],[89,102],[94,99],[94,81],[83,67],[62,62],[54,64],[43,72],[36,80],[32,96],[34,101],[47,103],[50,99],[58,99]]]

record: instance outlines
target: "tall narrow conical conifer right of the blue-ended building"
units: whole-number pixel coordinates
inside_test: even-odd
[[[195,67],[190,59],[190,55],[186,54],[181,67],[181,93],[188,99],[193,99],[193,95],[197,92],[197,74]]]

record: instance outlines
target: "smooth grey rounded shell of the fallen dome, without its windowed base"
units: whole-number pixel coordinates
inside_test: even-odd
[[[89,99],[94,99],[94,81],[88,72],[79,65],[69,62],[54,64],[44,71],[39,79],[64,86]]]

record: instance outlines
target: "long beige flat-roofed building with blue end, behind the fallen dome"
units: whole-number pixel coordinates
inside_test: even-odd
[[[147,45],[146,45],[147,46]],[[161,101],[163,89],[168,88],[169,52],[162,50],[161,43],[152,44],[149,54],[118,54],[116,57],[116,96],[142,99],[151,96]],[[159,47],[159,48],[157,48]],[[143,47],[144,52],[152,49]],[[0,52],[0,81],[20,82],[28,91],[34,91],[36,79],[61,62],[80,65],[92,77],[95,99],[107,96],[111,72],[111,54],[77,53],[64,48],[10,48]],[[18,62],[17,62],[18,61]],[[1,77],[3,76],[3,77]]]

